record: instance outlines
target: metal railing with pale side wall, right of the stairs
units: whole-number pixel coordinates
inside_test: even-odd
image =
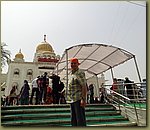
[[[100,95],[103,93],[105,102],[112,104],[121,111],[122,115],[136,122],[138,126],[146,126],[146,96],[141,94],[142,83],[115,85],[117,90],[111,90],[112,85],[102,85]],[[132,95],[127,93],[125,85],[132,86]]]

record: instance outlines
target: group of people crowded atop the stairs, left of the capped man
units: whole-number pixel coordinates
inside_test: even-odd
[[[52,86],[49,85],[49,79],[52,79]],[[64,92],[64,83],[60,77],[52,74],[48,76],[47,72],[43,75],[37,76],[31,83],[30,87],[27,80],[24,80],[23,86],[19,92],[17,86],[13,86],[9,95],[3,101],[4,106],[10,105],[38,105],[38,104],[64,104],[66,103]],[[34,98],[35,97],[35,98]]]

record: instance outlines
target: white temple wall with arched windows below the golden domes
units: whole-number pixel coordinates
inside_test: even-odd
[[[41,66],[55,67],[52,64],[35,63],[35,62],[12,62],[9,64],[8,76],[6,81],[5,95],[8,96],[13,85],[17,84],[17,94],[20,93],[21,87],[24,80],[29,82],[31,88],[31,82],[38,75],[42,75],[44,72],[49,74],[53,71],[52,69],[39,69]],[[19,71],[19,74],[15,74]],[[31,89],[30,89],[31,91]]]

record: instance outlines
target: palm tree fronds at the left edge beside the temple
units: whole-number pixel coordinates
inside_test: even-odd
[[[8,61],[10,60],[10,51],[6,50],[6,43],[1,43],[1,68],[4,67],[6,64],[8,64]]]

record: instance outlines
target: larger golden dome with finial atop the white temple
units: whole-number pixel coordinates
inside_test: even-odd
[[[43,53],[43,52],[49,53],[54,52],[52,46],[48,42],[46,42],[46,35],[44,35],[44,42],[41,42],[36,48],[36,53]]]

